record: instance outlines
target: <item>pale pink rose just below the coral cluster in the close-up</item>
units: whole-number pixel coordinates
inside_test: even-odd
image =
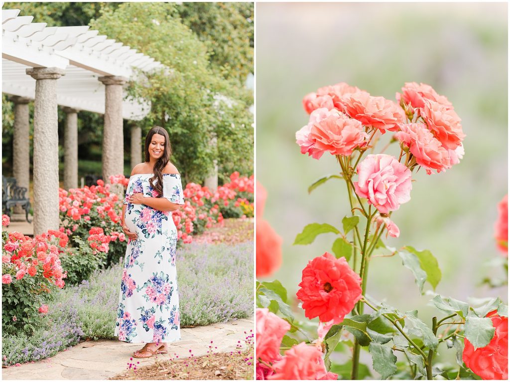
[[[380,213],[395,211],[411,200],[411,170],[391,155],[368,155],[356,168],[356,194]]]

